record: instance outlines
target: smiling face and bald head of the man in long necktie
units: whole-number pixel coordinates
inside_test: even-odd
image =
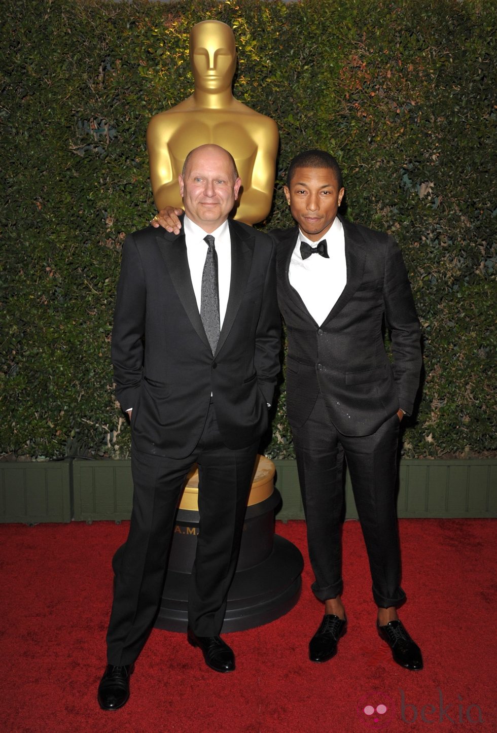
[[[191,152],[179,182],[186,216],[207,233],[226,221],[241,185],[232,158],[218,145]]]

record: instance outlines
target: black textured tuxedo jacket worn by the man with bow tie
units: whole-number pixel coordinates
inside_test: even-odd
[[[288,278],[298,227],[272,232],[279,308],[287,325],[287,415],[290,424],[301,426],[321,391],[337,430],[371,435],[399,408],[413,410],[421,369],[419,320],[392,237],[339,218],[347,284],[321,325]],[[384,322],[393,364],[383,344]]]

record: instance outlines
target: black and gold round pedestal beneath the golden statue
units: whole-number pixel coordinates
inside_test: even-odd
[[[274,464],[263,456],[252,481],[237,572],[229,589],[223,632],[267,624],[293,608],[301,592],[303,559],[287,539],[274,534],[274,510],[281,497],[273,486]],[[199,531],[199,476],[188,482],[177,512],[161,608],[155,627],[186,631],[188,583]]]

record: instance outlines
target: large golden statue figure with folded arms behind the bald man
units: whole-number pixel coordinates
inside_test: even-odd
[[[276,122],[233,97],[235,37],[226,23],[202,21],[191,29],[190,64],[193,95],[155,114],[147,130],[155,205],[182,206],[178,175],[186,155],[215,143],[231,152],[242,180],[235,219],[256,224],[268,216],[273,199]]]

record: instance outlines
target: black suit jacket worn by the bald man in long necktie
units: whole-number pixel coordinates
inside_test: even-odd
[[[276,248],[268,235],[229,221],[229,300],[213,355],[180,235],[148,226],[125,239],[112,331],[117,399],[133,408],[133,444],[183,458],[199,441],[210,394],[230,449],[257,441],[268,424],[280,370]]]

